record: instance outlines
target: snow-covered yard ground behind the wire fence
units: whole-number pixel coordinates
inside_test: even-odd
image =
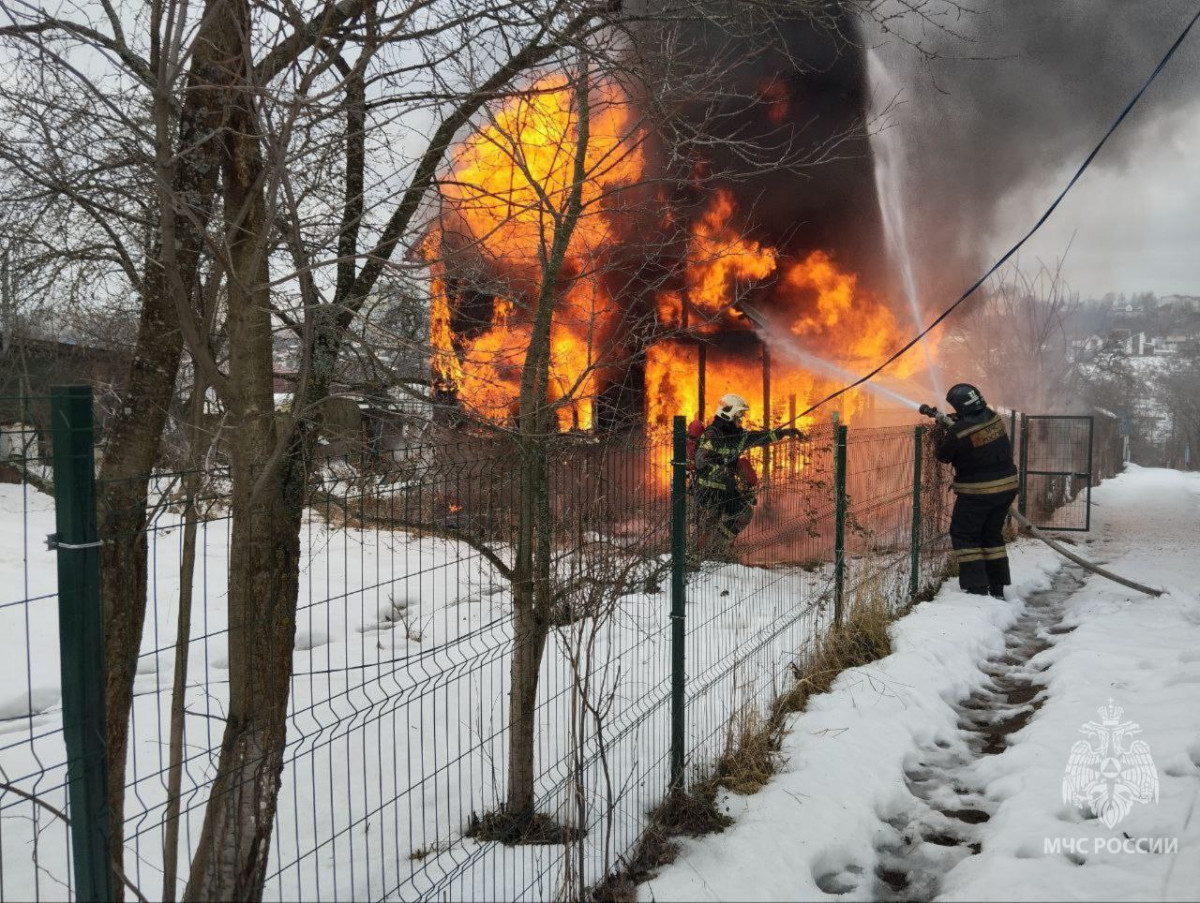
[[[178,520],[168,509],[151,533],[152,593],[130,741],[126,871],[150,898],[162,886]],[[41,543],[53,530],[50,498],[0,485],[0,779],[62,808],[55,557]],[[199,835],[228,698],[228,521],[204,521],[199,543],[180,875]],[[560,896],[562,847],[512,848],[464,836],[470,817],[493,811],[505,791],[506,582],[463,543],[346,527],[320,512],[306,516],[302,548],[268,899]],[[902,581],[902,568],[892,576]],[[744,701],[768,701],[787,664],[828,623],[828,608],[817,603],[829,582],[827,566],[706,566],[692,576],[690,761],[715,760]],[[566,767],[576,748],[572,660],[590,650],[582,666],[594,677],[592,701],[602,698],[606,708],[587,719],[578,740],[588,784],[582,818],[592,829],[581,844],[589,883],[636,843],[670,779],[670,581],[638,586],[616,605],[590,640],[576,628],[552,634],[540,684],[539,808],[577,823]],[[578,629],[596,623],[589,618]],[[0,901],[68,898],[61,824],[2,790],[0,817]]]

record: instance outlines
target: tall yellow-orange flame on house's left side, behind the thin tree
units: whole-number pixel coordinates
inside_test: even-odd
[[[503,421],[515,413],[530,319],[554,227],[568,208],[578,143],[578,97],[563,77],[550,77],[510,100],[490,125],[457,150],[442,186],[443,233],[456,234],[499,274],[490,327],[458,342],[449,335],[444,279],[432,280],[431,340],[438,377],[475,413]],[[596,367],[617,315],[594,276],[613,241],[614,192],[641,179],[643,157],[632,108],[611,82],[589,96],[586,179],[581,214],[568,244],[551,324],[548,401],[562,429],[593,425]],[[431,257],[427,252],[427,257]],[[448,353],[449,352],[449,353]],[[452,358],[452,360],[450,359]]]

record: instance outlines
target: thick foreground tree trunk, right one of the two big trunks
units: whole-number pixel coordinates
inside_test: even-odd
[[[250,7],[223,0],[252,71]],[[263,157],[253,88],[229,94],[222,136],[228,249],[233,531],[229,555],[229,714],[204,827],[184,898],[259,901],[287,743],[288,690],[295,642],[304,468],[275,462],[270,271],[271,221],[263,195]]]

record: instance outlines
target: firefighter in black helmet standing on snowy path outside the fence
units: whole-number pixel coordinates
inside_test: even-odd
[[[937,460],[954,466],[958,494],[950,515],[950,544],[959,562],[959,586],[977,596],[1004,598],[1012,582],[1004,549],[1004,519],[1016,498],[1013,443],[1003,418],[979,390],[959,383],[946,394],[953,424],[937,439]]]

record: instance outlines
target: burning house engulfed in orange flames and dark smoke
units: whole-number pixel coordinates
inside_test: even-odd
[[[796,24],[684,104],[702,138],[686,153],[619,74],[583,98],[550,76],[496,109],[456,150],[424,249],[442,399],[511,418],[545,301],[562,430],[665,427],[725,391],[779,423],[900,345],[865,60],[835,31]]]

